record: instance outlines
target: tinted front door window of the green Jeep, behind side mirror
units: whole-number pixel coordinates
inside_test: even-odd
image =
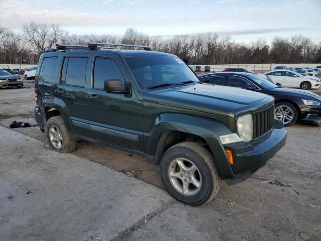
[[[106,79],[119,79],[124,83],[124,77],[117,63],[111,59],[97,58],[94,66],[94,83],[96,89],[104,89]]]

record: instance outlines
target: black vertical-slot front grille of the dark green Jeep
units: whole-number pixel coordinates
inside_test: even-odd
[[[253,140],[267,135],[273,129],[274,105],[259,110],[253,115]]]

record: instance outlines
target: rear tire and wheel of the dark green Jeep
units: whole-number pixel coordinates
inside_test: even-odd
[[[76,150],[77,142],[69,135],[61,115],[53,116],[48,119],[45,131],[49,146],[55,151],[71,153]]]

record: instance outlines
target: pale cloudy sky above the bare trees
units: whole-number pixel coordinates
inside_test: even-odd
[[[302,34],[321,42],[321,0],[0,0],[0,26],[59,24],[70,35],[149,36],[217,32],[236,42]]]

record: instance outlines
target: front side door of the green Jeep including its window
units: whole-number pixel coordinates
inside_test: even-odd
[[[89,128],[92,138],[105,143],[143,150],[142,102],[134,92],[130,94],[107,93],[104,80],[127,80],[117,62],[110,58],[94,60],[92,88],[88,89]]]

